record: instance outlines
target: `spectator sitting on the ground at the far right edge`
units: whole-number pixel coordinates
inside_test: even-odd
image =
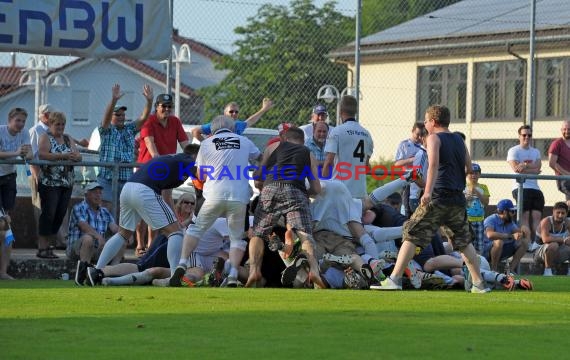
[[[540,222],[536,236],[540,239],[534,262],[544,264],[544,276],[552,276],[552,269],[570,259],[570,219],[568,205],[557,202],[552,208],[552,215]],[[570,275],[570,268],[567,272]]]

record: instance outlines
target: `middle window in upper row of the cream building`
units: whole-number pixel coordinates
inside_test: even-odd
[[[524,96],[522,61],[475,64],[475,120],[521,120]]]

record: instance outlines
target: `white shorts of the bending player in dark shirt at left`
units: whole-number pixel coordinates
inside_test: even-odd
[[[123,229],[135,231],[141,219],[153,230],[178,221],[160,194],[146,185],[127,182],[121,191],[119,225]]]

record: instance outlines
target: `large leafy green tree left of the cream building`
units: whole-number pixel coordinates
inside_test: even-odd
[[[228,75],[200,91],[206,120],[230,101],[240,104],[245,117],[268,96],[276,105],[257,126],[305,124],[322,85],[346,87],[346,66],[332,63],[327,54],[354,39],[354,19],[337,12],[335,5],[317,8],[311,0],[292,0],[288,7],[266,4],[246,26],[236,28],[242,35],[237,51],[222,56],[218,64]]]

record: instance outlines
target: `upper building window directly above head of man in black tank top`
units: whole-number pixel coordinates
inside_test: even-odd
[[[467,64],[421,66],[418,79],[418,121],[430,105],[445,104],[452,122],[465,122]]]

